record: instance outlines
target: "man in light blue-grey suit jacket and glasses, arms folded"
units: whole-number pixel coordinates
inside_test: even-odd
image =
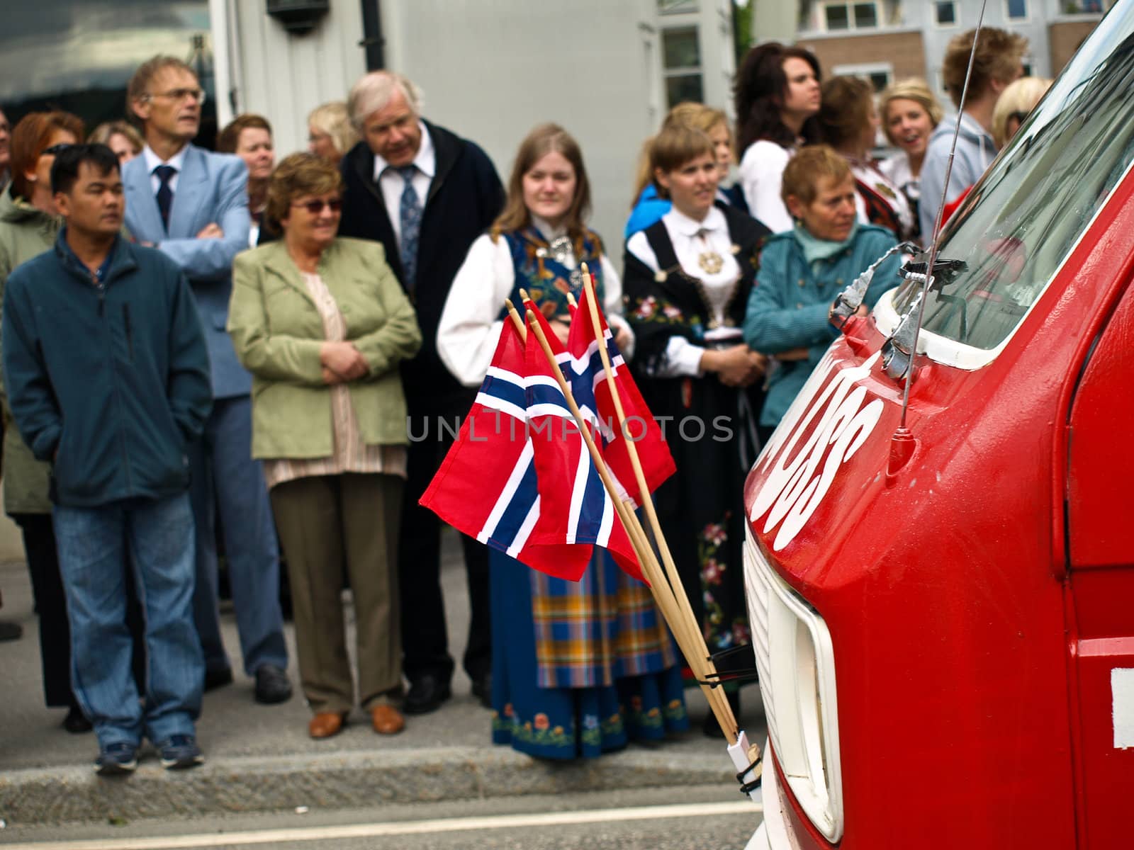
[[[232,680],[220,636],[215,522],[225,535],[244,669],[261,703],[291,696],[279,605],[279,550],[259,461],[252,459],[252,377],[225,330],[232,258],[248,246],[248,172],[238,156],[189,142],[201,127],[204,92],[193,69],[172,57],[142,65],[127,107],[146,146],[122,168],[126,226],[185,271],[196,298],[212,366],[213,409],[204,437],[188,448],[196,522],[194,620],[205,656],[205,687]]]

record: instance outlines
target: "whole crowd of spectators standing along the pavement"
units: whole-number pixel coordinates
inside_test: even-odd
[[[943,61],[958,108],[971,48],[957,36]],[[744,476],[835,338],[838,292],[925,244],[1042,95],[1047,80],[1017,80],[1025,48],[982,29],[953,118],[922,80],[875,97],[806,50],[754,48],[735,135],[683,103],[646,141],[620,258],[587,226],[566,129],[532,129],[503,185],[390,71],[314,109],[308,151],[279,163],[263,116],[238,116],[215,153],[194,145],[205,95],[169,57],[134,74],[129,121],[90,135],[60,111],[9,131],[0,112],[3,495],[46,705],[93,728],[100,774],[133,771],[145,739],[167,767],[200,764],[202,694],[234,681],[223,562],[255,700],[291,696],[286,564],[311,737],[355,706],[380,734],[435,711],[456,663],[441,524],[418,500],[452,441],[442,423],[473,403],[506,298],[526,290],[566,340],[584,263],[653,414],[700,423],[667,431],[658,513],[710,652],[739,649],[718,666],[751,669]],[[880,128],[898,148],[885,162]],[[462,663],[493,740],[575,758],[688,728],[682,658],[608,554],[569,583],[462,547]],[[711,715],[704,731],[720,734]]]

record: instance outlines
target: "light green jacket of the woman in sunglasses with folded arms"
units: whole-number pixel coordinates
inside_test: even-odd
[[[335,297],[347,341],[370,373],[347,384],[367,445],[409,442],[398,365],[421,347],[409,298],[379,243],[338,238],[323,252],[319,277]],[[331,392],[323,383],[323,320],[284,241],[236,257],[228,332],[252,373],[252,456],[325,458],[335,451]]]

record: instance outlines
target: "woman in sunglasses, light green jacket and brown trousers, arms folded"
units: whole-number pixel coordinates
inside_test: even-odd
[[[295,612],[312,738],[354,705],[340,592],[354,596],[358,698],[375,732],[405,722],[396,553],[406,477],[398,364],[421,332],[382,246],[337,238],[341,178],[310,153],[268,189],[282,240],[236,258],[228,331],[252,372],[252,454],[263,461]],[[344,576],[344,570],[346,576]]]

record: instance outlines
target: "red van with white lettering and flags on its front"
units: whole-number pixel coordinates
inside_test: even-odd
[[[1132,163],[1123,0],[753,467],[750,847],[1134,848]]]

